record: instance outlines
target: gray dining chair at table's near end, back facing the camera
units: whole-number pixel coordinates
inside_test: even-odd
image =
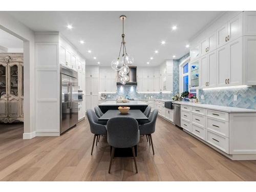
[[[133,158],[138,173],[134,146],[140,141],[139,125],[136,119],[132,117],[114,117],[106,124],[108,127],[108,143],[112,147],[109,173],[112,160],[115,154],[115,148],[132,148]]]

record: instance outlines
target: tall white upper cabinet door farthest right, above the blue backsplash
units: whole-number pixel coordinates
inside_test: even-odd
[[[229,86],[241,85],[243,82],[242,37],[228,44],[230,58]]]

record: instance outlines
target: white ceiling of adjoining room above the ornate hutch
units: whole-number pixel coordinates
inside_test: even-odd
[[[23,49],[23,41],[0,29],[0,46],[8,49]]]

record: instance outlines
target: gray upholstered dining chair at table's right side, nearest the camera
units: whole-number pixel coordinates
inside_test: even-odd
[[[158,110],[154,110],[150,117],[148,117],[148,120],[150,122],[141,124],[139,126],[140,135],[146,135],[148,137],[148,140],[150,141],[150,144],[152,145],[153,154],[155,155],[154,146],[153,146],[153,140],[152,135],[156,131],[156,120],[157,120]]]

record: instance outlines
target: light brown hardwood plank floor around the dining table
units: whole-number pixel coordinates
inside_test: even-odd
[[[115,158],[108,174],[110,146],[93,134],[87,120],[60,137],[22,139],[23,127],[0,124],[1,181],[256,181],[256,161],[232,161],[158,118],[152,135],[155,156],[140,138],[138,174],[133,158]]]

